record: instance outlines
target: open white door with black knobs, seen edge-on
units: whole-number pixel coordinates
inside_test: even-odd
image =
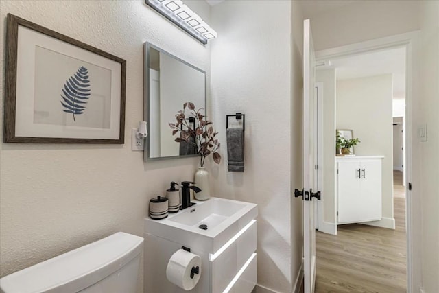
[[[314,143],[313,103],[314,103],[314,49],[309,19],[303,22],[303,256],[304,256],[304,292],[314,292],[316,280],[316,223],[314,209],[316,199],[306,192],[314,185]],[[307,200],[309,199],[309,200]]]

